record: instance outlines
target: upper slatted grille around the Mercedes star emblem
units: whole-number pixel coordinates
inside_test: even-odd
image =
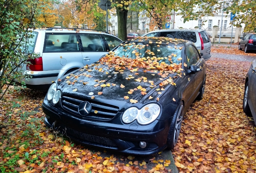
[[[89,115],[83,117],[78,113],[78,106],[83,101],[88,101],[91,104],[91,113]],[[99,103],[97,101],[88,100],[81,97],[74,97],[72,95],[63,95],[61,97],[61,103],[63,109],[73,113],[74,115],[78,115],[83,118],[92,118],[92,119],[100,119],[100,120],[110,120],[118,113],[118,107],[113,105],[108,105],[104,103]],[[98,111],[97,114],[94,111]]]

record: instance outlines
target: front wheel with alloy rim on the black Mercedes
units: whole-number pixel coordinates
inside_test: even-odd
[[[167,149],[173,149],[174,146],[177,144],[183,120],[183,109],[183,104],[180,103],[173,115],[166,141]]]

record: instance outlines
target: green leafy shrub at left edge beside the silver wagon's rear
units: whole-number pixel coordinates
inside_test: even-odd
[[[26,65],[33,47],[31,28],[49,0],[0,0],[0,100],[15,81],[25,84],[21,67]]]

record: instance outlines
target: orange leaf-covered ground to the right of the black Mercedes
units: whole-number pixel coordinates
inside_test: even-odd
[[[186,113],[173,155],[180,172],[256,170],[256,127],[243,112],[250,62],[211,58],[206,62],[204,99]]]

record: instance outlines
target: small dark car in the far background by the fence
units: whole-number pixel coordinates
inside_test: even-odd
[[[248,53],[250,50],[256,50],[256,34],[247,34],[246,36],[241,37],[242,41],[239,42],[238,49],[244,49],[245,53]]]

